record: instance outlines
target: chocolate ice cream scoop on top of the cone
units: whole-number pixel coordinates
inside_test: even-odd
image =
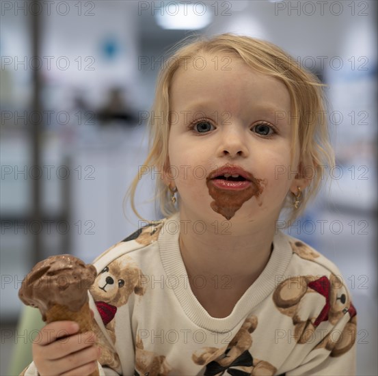
[[[18,296],[27,306],[46,312],[59,305],[72,312],[88,301],[88,289],[96,278],[96,268],[70,254],[51,256],[36,264],[23,280]]]

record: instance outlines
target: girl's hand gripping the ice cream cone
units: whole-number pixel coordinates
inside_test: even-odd
[[[40,376],[90,375],[97,368],[96,336],[78,332],[74,321],[55,321],[40,330],[33,341],[33,361]]]

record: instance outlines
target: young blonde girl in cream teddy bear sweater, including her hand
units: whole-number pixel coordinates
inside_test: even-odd
[[[246,36],[178,49],[131,187],[135,210],[150,174],[167,218],[96,259],[96,336],[46,325],[25,375],[354,375],[356,312],[340,272],[277,226],[333,163],[321,86]]]

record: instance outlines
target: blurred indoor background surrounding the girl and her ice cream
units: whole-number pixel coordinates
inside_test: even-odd
[[[1,0],[0,375],[26,366],[14,354],[29,347],[16,327],[29,269],[59,253],[89,263],[137,228],[122,200],[164,53],[228,31],[278,44],[329,85],[338,167],[287,231],[340,268],[359,314],[357,375],[378,375],[377,1],[351,0]],[[145,180],[137,207],[157,219]]]

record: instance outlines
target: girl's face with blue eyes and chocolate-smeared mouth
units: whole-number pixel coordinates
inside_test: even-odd
[[[291,100],[284,83],[234,55],[202,55],[175,73],[170,109],[165,181],[177,187],[180,211],[207,221],[274,224],[288,191],[303,187],[295,179],[298,150],[291,165]],[[224,166],[231,170],[212,176]],[[228,176],[238,169],[243,177]],[[222,205],[231,209],[222,211]]]

